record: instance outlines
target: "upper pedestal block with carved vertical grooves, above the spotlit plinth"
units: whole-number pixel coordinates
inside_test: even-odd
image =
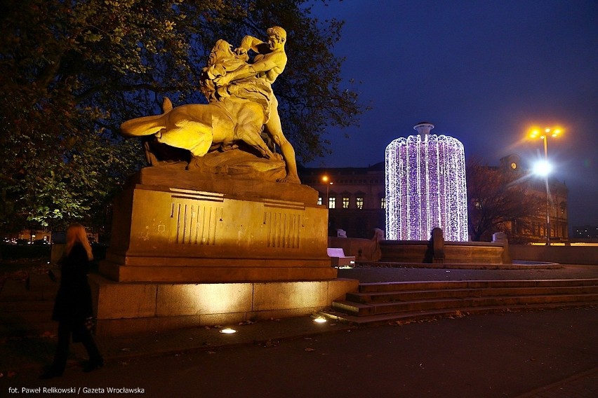
[[[100,273],[120,282],[331,280],[327,222],[307,186],[152,167],[114,203]]]

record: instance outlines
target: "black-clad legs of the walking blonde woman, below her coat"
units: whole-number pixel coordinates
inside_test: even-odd
[[[93,341],[91,331],[85,327],[83,322],[76,321],[60,321],[58,322],[58,345],[56,346],[56,353],[54,355],[54,362],[52,369],[56,373],[62,374],[67,366],[67,357],[69,356],[69,343],[71,336],[77,336],[77,340],[83,343],[90,362],[99,364],[103,361],[102,355],[98,350],[98,346]]]

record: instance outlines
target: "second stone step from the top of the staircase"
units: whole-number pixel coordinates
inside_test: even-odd
[[[346,300],[356,303],[384,303],[389,301],[413,301],[423,299],[448,299],[482,296],[538,296],[547,294],[598,293],[596,286],[566,287],[489,287],[485,289],[424,289],[401,291],[350,292]]]

